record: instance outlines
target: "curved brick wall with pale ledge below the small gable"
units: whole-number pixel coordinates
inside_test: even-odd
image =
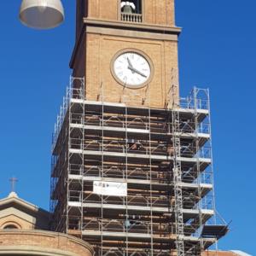
[[[0,230],[0,255],[91,256],[90,244],[74,236],[43,230]]]

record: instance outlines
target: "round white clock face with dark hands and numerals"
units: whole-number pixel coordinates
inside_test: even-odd
[[[143,55],[127,51],[113,61],[113,73],[124,86],[140,88],[147,84],[151,67]]]

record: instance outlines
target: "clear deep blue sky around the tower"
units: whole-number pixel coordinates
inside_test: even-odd
[[[51,132],[68,83],[74,2],[65,23],[49,31],[22,26],[20,2],[0,10],[0,196],[9,177],[20,197],[49,208]],[[210,88],[218,212],[231,223],[219,248],[255,254],[256,2],[177,0],[181,94]]]

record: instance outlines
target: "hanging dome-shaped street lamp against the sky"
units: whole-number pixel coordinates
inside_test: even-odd
[[[25,26],[48,29],[59,26],[64,20],[61,0],[23,0],[20,21]]]

